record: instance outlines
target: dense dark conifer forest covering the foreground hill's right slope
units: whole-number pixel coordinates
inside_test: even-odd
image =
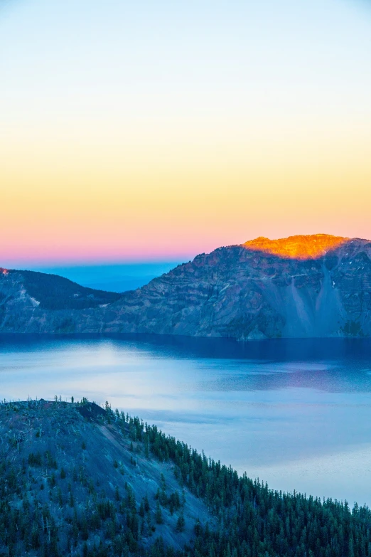
[[[161,461],[176,465],[181,485],[201,497],[219,520],[216,531],[195,526],[195,557],[367,557],[371,556],[371,511],[367,506],[321,500],[269,489],[239,477],[232,467],[208,459],[156,425],[110,412],[129,424]]]

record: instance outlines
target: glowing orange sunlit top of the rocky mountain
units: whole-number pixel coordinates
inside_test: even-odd
[[[334,250],[348,241],[349,238],[330,234],[297,235],[279,240],[259,236],[242,245],[247,250],[262,251],[285,259],[303,260],[321,258],[329,250]]]

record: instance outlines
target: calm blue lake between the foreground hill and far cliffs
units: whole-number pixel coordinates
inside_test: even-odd
[[[87,396],[284,491],[371,505],[371,341],[0,336],[0,398]]]

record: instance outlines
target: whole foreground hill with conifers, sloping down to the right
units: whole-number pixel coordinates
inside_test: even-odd
[[[27,444],[26,430],[27,439],[32,435]],[[92,460],[85,457],[90,433],[102,430],[122,435],[129,465],[120,460],[107,464],[107,448],[92,453]],[[64,444],[67,434],[78,450],[75,460],[66,460],[75,455]],[[367,507],[350,509],[346,502],[273,491],[108,404],[103,410],[86,399],[6,403],[0,407],[0,435],[1,556],[371,555]],[[161,472],[156,490],[141,492],[140,474],[128,468],[138,469],[139,461],[170,470],[173,479]],[[96,465],[112,474],[111,483],[111,478],[117,484],[124,481],[124,490],[112,484],[113,491],[104,492]],[[178,487],[171,487],[172,481]],[[191,505],[192,497],[204,502],[209,518]]]

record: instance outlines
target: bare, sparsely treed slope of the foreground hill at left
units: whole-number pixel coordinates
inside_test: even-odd
[[[161,536],[176,557],[215,519],[156,432],[86,399],[0,403],[0,556],[144,556]]]

